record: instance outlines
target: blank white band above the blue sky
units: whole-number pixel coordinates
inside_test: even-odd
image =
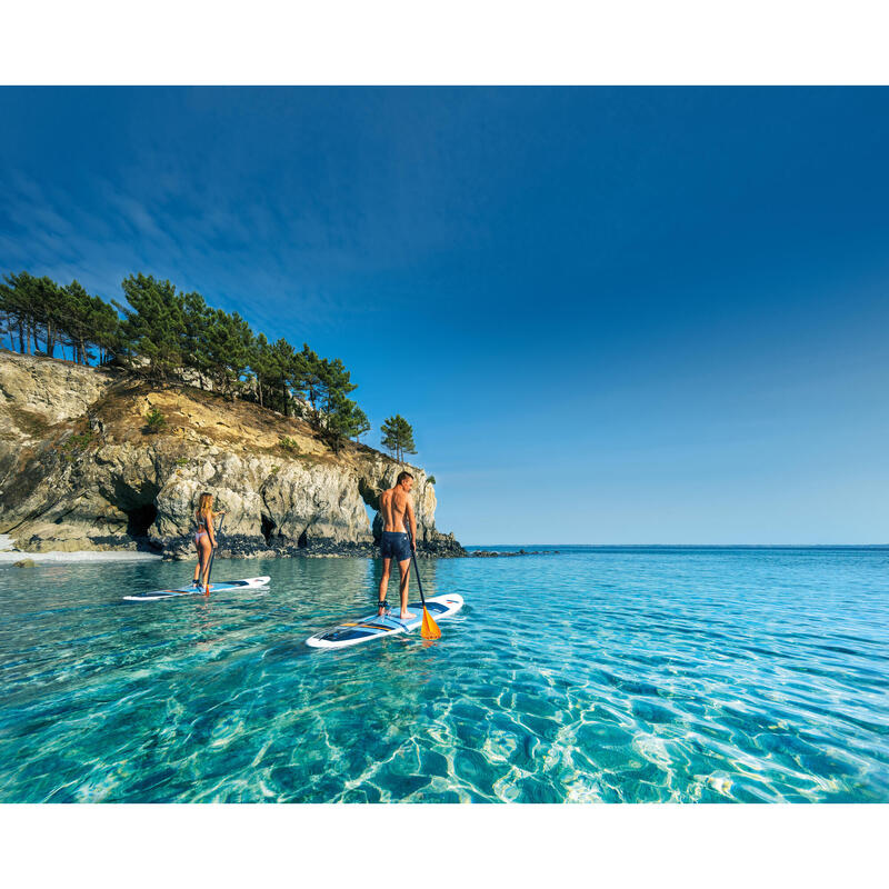
[[[18,84],[886,83],[877,0],[7,0]]]

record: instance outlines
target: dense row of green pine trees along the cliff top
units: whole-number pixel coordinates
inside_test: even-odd
[[[153,382],[211,384],[229,399],[303,417],[334,452],[370,430],[348,397],[356,384],[339,358],[319,358],[307,343],[297,351],[283,338],[270,343],[237,312],[213,309],[170,281],[131,274],[121,287],[126,302],[109,304],[77,281],[61,287],[24,271],[7,274],[0,338],[27,354],[54,358],[60,350],[67,359],[70,349],[78,363],[114,361]]]

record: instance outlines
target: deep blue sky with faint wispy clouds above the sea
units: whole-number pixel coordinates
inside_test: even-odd
[[[889,541],[889,90],[0,89],[0,271],[341,358],[466,543]]]

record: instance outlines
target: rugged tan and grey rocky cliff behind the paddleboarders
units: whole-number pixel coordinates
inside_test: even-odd
[[[146,428],[151,408],[160,432]],[[372,555],[367,507],[402,468],[416,479],[418,551],[465,555],[436,529],[418,467],[354,442],[334,455],[303,420],[251,402],[0,350],[0,533],[22,550],[190,556],[207,490],[227,510],[221,556]]]

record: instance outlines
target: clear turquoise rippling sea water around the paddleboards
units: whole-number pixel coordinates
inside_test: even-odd
[[[0,801],[889,801],[888,550],[561,549],[341,651],[369,560],[0,566]]]

